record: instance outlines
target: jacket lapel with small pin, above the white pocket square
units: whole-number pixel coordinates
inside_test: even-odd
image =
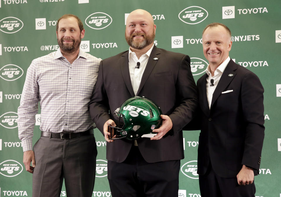
[[[236,72],[234,72],[234,70],[236,69],[237,66],[235,65],[234,61],[230,59],[213,93],[211,108],[214,102],[217,100],[217,98],[221,95],[221,93],[225,90],[225,88],[229,85],[229,83],[234,79],[236,75]]]

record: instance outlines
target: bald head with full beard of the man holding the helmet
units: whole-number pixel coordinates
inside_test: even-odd
[[[125,37],[133,49],[150,48],[155,38],[156,25],[151,14],[145,10],[132,11],[126,21]]]

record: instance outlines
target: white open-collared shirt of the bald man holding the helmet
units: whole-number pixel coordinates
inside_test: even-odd
[[[153,47],[154,44],[145,54],[140,56],[140,59],[138,59],[136,53],[132,52],[131,49],[129,48],[129,71],[130,71],[131,82],[135,95],[137,95],[138,88],[140,87],[140,81],[143,76],[143,72],[145,70],[146,64],[148,62],[148,58],[150,56]],[[140,68],[135,68],[137,62],[140,63]]]

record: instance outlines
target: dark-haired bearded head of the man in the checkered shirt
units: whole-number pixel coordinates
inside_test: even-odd
[[[79,49],[85,30],[80,32],[77,19],[62,18],[59,21],[56,37],[62,53],[72,54]]]

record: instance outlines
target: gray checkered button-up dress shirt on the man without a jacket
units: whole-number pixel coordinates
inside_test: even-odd
[[[18,136],[23,151],[33,150],[32,136],[38,102],[41,131],[78,133],[94,127],[88,103],[100,61],[80,51],[77,59],[70,64],[60,49],[32,61],[18,107]]]

